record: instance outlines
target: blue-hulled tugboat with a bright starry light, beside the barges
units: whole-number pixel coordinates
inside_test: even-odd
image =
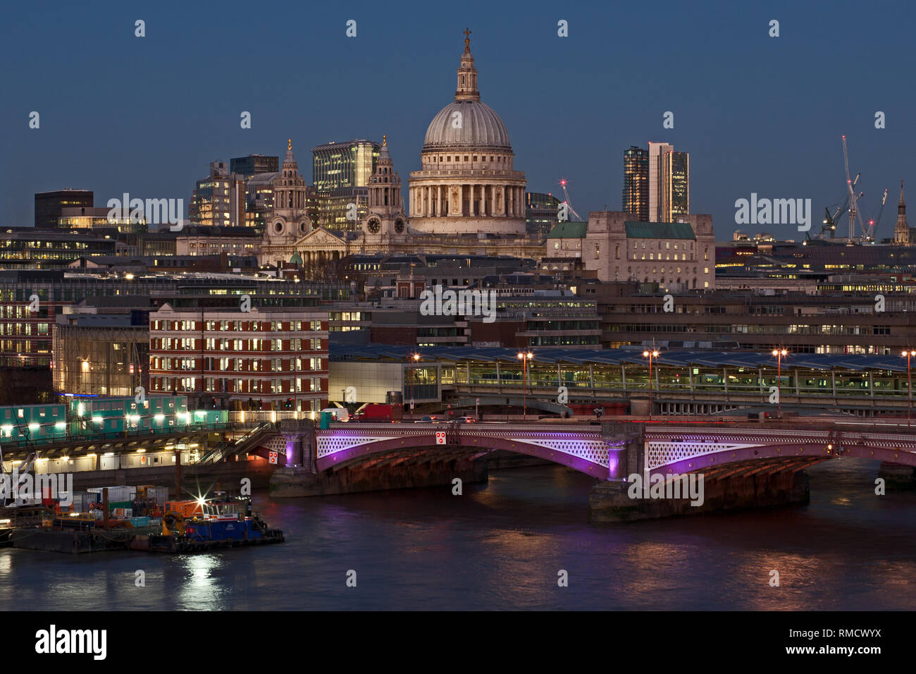
[[[203,552],[219,547],[282,543],[279,529],[271,529],[251,512],[248,499],[227,498],[167,503],[162,533],[136,536],[133,549],[150,552]],[[189,516],[190,515],[190,516]]]

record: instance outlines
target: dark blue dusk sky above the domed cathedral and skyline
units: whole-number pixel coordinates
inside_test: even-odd
[[[582,215],[620,209],[622,152],[649,140],[691,153],[691,210],[713,214],[720,239],[752,192],[811,198],[818,230],[844,195],[842,134],[863,210],[877,214],[891,188],[879,238],[900,179],[916,203],[902,2],[35,2],[6,5],[0,22],[4,221],[31,225],[34,193],[61,187],[92,189],[100,206],[124,192],[187,206],[210,161],[282,157],[289,137],[311,182],[313,146],[387,133],[407,182],[453,99],[465,26],[482,100],[506,122],[529,191],[557,193],[562,173]]]

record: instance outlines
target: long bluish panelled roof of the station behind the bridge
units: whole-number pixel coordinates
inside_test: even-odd
[[[409,354],[417,352],[421,361],[435,362],[518,362],[520,348],[502,347],[398,347],[385,344],[361,346],[332,345],[331,359],[343,360],[403,360],[409,361]],[[570,365],[645,365],[645,348],[529,348],[533,360],[540,363],[566,363]],[[659,356],[653,362],[659,366],[707,368],[772,368],[777,359],[769,351],[714,351],[705,349],[659,349]],[[789,353],[782,357],[785,370],[893,370],[907,371],[907,361],[900,355],[852,355]]]

